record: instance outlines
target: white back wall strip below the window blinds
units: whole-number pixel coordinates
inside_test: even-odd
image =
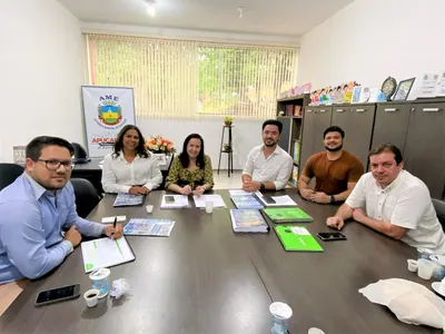
[[[263,120],[234,120],[234,169],[243,169],[249,150],[263,144],[261,139]],[[184,139],[194,132],[202,136],[205,153],[210,156],[214,169],[218,168],[219,148],[222,134],[222,117],[205,120],[162,120],[162,119],[137,119],[144,136],[162,135],[174,140],[177,154],[182,150]],[[226,130],[227,131],[227,130]],[[228,132],[225,137],[228,143]],[[221,156],[221,169],[227,169],[227,154]]]

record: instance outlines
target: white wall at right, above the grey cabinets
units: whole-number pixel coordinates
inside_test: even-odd
[[[382,86],[445,69],[444,0],[356,0],[303,37],[298,82]]]

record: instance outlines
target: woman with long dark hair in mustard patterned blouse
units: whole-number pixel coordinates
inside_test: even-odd
[[[182,195],[202,195],[214,187],[210,157],[204,154],[204,140],[198,134],[184,141],[182,153],[171,163],[166,189]]]

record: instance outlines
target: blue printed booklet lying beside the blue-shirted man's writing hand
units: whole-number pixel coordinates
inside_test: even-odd
[[[131,218],[123,227],[125,235],[170,236],[175,220]]]

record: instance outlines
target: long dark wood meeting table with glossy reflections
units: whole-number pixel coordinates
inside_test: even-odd
[[[69,284],[90,288],[80,247],[46,278],[28,284],[0,317],[0,333],[270,333],[271,302],[290,305],[290,333],[319,327],[332,333],[441,333],[406,325],[386,307],[370,303],[358,289],[378,279],[400,277],[429,287],[406,268],[416,250],[357,223],[348,223],[346,242],[323,243],[324,253],[285,252],[275,232],[267,235],[234,234],[227,190],[218,190],[227,209],[211,215],[197,208],[162,210],[165,191],[152,191],[145,207],[113,208],[106,195],[89,216],[127,215],[129,218],[172,218],[168,238],[128,236],[136,261],[111,268],[111,278],[131,284],[129,296],[105,298],[87,308],[83,298],[37,308],[38,292]],[[287,193],[314,217],[313,235],[330,230],[326,217],[336,206],[316,205]]]

